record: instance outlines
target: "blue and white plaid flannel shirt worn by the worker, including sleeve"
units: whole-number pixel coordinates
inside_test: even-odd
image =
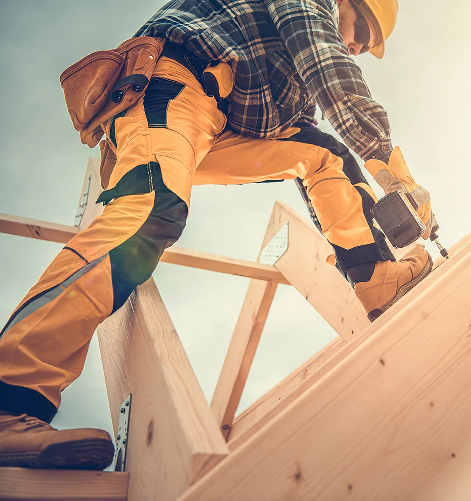
[[[316,124],[316,104],[361,158],[387,162],[386,110],[338,31],[336,0],[171,0],[135,34],[185,44],[232,65],[227,118],[243,136],[272,138]]]

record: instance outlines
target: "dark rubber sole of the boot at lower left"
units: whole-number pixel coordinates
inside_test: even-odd
[[[113,456],[113,444],[98,438],[56,443],[37,453],[0,454],[0,466],[103,470]]]

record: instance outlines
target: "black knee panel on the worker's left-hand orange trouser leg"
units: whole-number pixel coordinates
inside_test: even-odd
[[[186,203],[165,186],[156,162],[137,166],[108,193],[111,191],[113,198],[155,191],[154,207],[144,224],[131,238],[110,250],[114,313],[138,285],[150,278],[163,251],[180,238],[188,209]]]

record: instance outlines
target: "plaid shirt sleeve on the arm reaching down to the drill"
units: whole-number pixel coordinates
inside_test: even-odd
[[[337,28],[335,0],[265,0],[312,99],[363,160],[392,152],[386,110],[376,103]]]

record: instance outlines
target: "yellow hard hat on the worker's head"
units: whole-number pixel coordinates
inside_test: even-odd
[[[384,41],[391,35],[396,24],[399,6],[397,0],[354,0],[360,11],[374,26],[379,42],[370,49],[371,54],[381,59],[384,56]]]

